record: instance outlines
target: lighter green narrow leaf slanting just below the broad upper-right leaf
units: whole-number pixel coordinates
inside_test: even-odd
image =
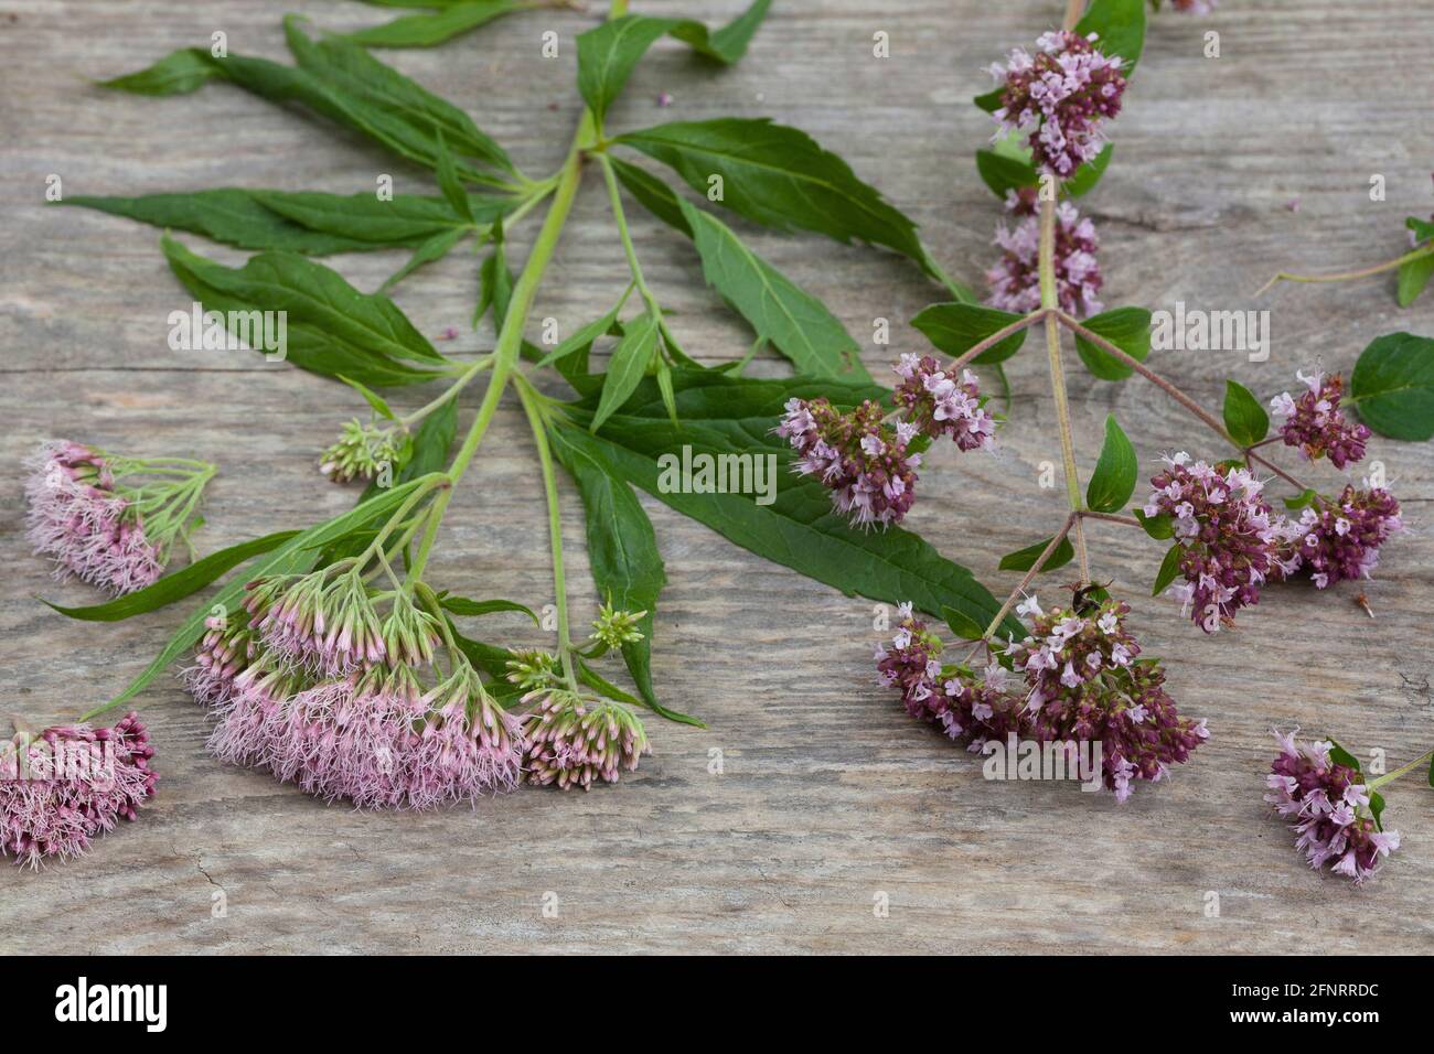
[[[826,305],[753,252],[716,217],[680,201],[703,275],[757,336],[816,377],[870,380],[862,350]]]

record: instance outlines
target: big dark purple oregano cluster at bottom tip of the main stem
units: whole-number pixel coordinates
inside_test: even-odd
[[[1043,743],[1101,746],[1106,787],[1117,802],[1134,780],[1160,780],[1209,737],[1205,721],[1176,713],[1157,660],[1140,660],[1124,628],[1130,605],[1107,599],[1045,612],[1034,598],[1031,635],[1010,655],[1025,673],[1031,734]]]

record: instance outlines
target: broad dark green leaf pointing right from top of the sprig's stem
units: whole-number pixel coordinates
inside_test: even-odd
[[[617,139],[723,208],[779,231],[885,245],[928,267],[916,225],[806,132],[766,119],[660,125]],[[720,182],[718,182],[720,181]]]

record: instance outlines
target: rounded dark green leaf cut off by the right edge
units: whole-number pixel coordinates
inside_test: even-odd
[[[1359,353],[1344,404],[1354,406],[1381,436],[1434,437],[1434,338],[1412,333],[1375,337]]]

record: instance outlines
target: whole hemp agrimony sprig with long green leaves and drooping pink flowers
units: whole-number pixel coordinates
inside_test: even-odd
[[[995,598],[965,568],[918,536],[899,528],[853,529],[826,515],[813,500],[822,489],[816,480],[793,482],[773,496],[766,488],[718,488],[697,476],[668,486],[658,470],[700,436],[707,456],[739,466],[736,480],[744,479],[743,466],[750,476],[786,450],[769,429],[793,399],[820,400],[833,414],[889,407],[866,410],[878,419],[899,402],[909,422],[892,427],[903,443],[919,427],[974,449],[989,443],[994,427],[969,381],[955,377],[949,390],[928,390],[923,363],[912,366],[911,383],[895,397],[872,384],[856,341],[832,311],[711,211],[885,247],[952,295],[968,297],[969,290],[936,264],[916,225],[845,161],[799,129],[766,119],[622,128],[622,89],[661,37],[730,65],[747,50],[770,0],[756,0],[720,29],[630,13],[625,0],[614,0],[608,17],[575,39],[585,112],[562,165],[541,178],[523,172],[467,113],[363,46],[435,44],[498,13],[521,17],[532,6],[549,4],[512,4],[511,11],[489,6],[483,17],[455,4],[354,37],[315,37],[290,17],[284,33],[294,65],[195,47],[105,82],[151,96],[222,82],[297,105],[427,169],[437,194],[218,188],[66,201],[254,252],[245,264],[227,267],[168,234],[161,241],[179,283],[198,301],[222,307],[231,330],[254,311],[282,313],[288,341],[271,361],[343,380],[371,414],[367,422],[354,417],[315,453],[331,480],[367,480],[351,512],[211,554],[122,602],[62,609],[76,618],[125,618],[188,597],[244,565],[185,619],[145,673],[95,713],[133,698],[192,650],[184,683],[212,710],[214,753],[264,767],[324,799],[423,809],[509,790],[525,779],[561,787],[614,782],[650,750],[640,708],[698,723],[663,706],[652,684],[651,641],[665,572],[634,486],[846,592],[895,601],[895,582],[902,581],[929,611],[962,611],[982,622],[998,612]],[[704,205],[634,158],[675,172]],[[542,348],[525,330],[588,171],[601,176],[628,275],[612,290],[611,310]],[[731,361],[703,367],[684,348],[642,270],[627,217],[634,201],[691,239],[707,281],[754,330],[754,341]],[[529,217],[541,217],[541,224],[515,274],[511,235]],[[483,257],[473,324],[490,320],[493,331],[490,351],[470,360],[440,353],[387,295],[463,241]],[[315,260],[394,247],[410,258],[373,293]],[[743,377],[761,348],[787,357],[799,374]],[[592,359],[604,350],[605,369],[594,371]],[[482,383],[482,396],[460,430],[465,393],[475,383]],[[413,384],[439,391],[416,409],[390,404],[394,390]],[[554,394],[555,386],[571,394]],[[457,597],[427,575],[450,496],[480,465],[483,436],[506,396],[516,397],[531,426],[548,506],[556,611],[551,651],[466,635],[465,619],[536,615],[512,601]],[[604,598],[587,641],[571,630],[559,465],[582,498],[588,562]],[[1014,619],[1004,622],[1010,630]],[[621,654],[635,691],[599,670],[609,652]]]

